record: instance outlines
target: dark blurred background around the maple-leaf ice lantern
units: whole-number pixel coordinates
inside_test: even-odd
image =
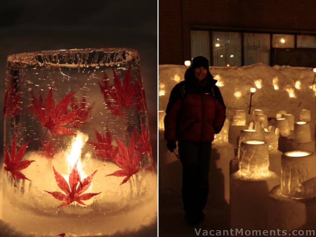
[[[0,3],[0,124],[9,54],[54,49],[138,50],[157,161],[157,1],[3,0]],[[2,156],[3,126],[0,125]],[[156,162],[157,163],[157,162]]]

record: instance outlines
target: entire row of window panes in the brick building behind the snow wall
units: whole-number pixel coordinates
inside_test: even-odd
[[[313,33],[314,34],[314,33]],[[228,31],[191,31],[191,57],[202,55],[211,66],[271,64],[277,48],[316,48],[315,35]]]

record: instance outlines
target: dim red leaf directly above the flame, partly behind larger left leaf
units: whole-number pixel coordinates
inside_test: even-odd
[[[75,97],[71,97],[70,102],[72,112],[77,113],[73,127],[78,128],[89,123],[88,119],[91,117],[92,106],[88,107],[86,105],[86,97],[83,97],[81,102],[77,101]]]

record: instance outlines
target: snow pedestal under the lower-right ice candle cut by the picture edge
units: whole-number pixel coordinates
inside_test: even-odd
[[[293,199],[281,194],[280,186],[269,194],[269,230],[314,230],[316,197]]]

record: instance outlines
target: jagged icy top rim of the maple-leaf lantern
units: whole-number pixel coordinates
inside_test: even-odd
[[[136,61],[137,63],[140,62],[137,50],[131,48],[75,48],[8,55],[7,67],[55,66],[86,68],[112,66],[126,63],[128,61]]]

